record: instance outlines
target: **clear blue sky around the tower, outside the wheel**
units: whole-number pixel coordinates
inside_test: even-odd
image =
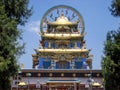
[[[120,26],[120,18],[111,15],[108,7],[111,0],[30,0],[29,6],[33,6],[33,14],[23,28],[23,41],[26,43],[26,54],[19,58],[19,63],[24,68],[32,68],[32,54],[39,47],[39,25],[44,13],[56,5],[68,5],[80,12],[85,22],[86,45],[92,49],[93,69],[101,69],[101,57],[106,34],[109,30],[116,30]]]

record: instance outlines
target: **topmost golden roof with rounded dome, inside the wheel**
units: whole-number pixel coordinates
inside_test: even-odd
[[[61,15],[54,22],[48,22],[50,25],[77,25],[77,22],[70,22],[67,17]]]

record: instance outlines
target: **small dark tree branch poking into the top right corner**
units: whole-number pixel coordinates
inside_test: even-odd
[[[113,0],[110,7],[113,16],[120,16],[120,0]]]

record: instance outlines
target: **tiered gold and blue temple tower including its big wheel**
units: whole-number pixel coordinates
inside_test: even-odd
[[[89,69],[92,61],[86,48],[84,21],[72,7],[56,6],[43,16],[39,49],[33,54],[33,68]]]

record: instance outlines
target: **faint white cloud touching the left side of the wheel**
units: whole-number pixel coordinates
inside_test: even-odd
[[[27,24],[27,30],[30,32],[35,32],[36,34],[39,34],[40,32],[40,21],[32,21]]]

